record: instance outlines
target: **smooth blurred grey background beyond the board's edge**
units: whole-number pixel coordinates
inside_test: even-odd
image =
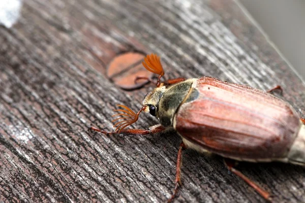
[[[239,0],[305,79],[305,1]]]

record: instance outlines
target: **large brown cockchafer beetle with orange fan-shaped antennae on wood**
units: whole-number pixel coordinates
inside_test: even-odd
[[[280,86],[262,91],[212,77],[177,78],[160,83],[164,75],[160,57],[147,55],[142,64],[159,75],[157,87],[145,96],[143,107],[134,113],[118,105],[123,109],[114,110],[119,113],[113,116],[123,117],[112,121],[118,121],[115,131],[90,129],[105,134],[153,134],[173,128],[182,142],[177,155],[175,187],[168,202],[173,200],[181,183],[182,150],[186,148],[225,157],[229,171],[267,200],[271,199],[270,194],[237,171],[232,159],[305,165],[305,119],[288,103],[270,94],[281,89]],[[156,116],[160,124],[148,130],[125,129],[138,120],[141,111]]]

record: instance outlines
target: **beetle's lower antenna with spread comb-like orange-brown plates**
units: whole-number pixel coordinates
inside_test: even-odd
[[[121,107],[123,109],[115,109],[113,111],[117,111],[117,112],[123,112],[123,113],[118,113],[118,114],[114,114],[112,117],[114,116],[123,116],[123,117],[120,117],[120,118],[116,118],[114,120],[112,120],[111,122],[115,122],[115,121],[118,121],[118,120],[121,120],[121,121],[118,121],[117,123],[115,123],[113,125],[113,127],[116,127],[115,128],[115,131],[118,130],[118,133],[123,130],[124,128],[126,128],[127,126],[135,123],[138,118],[139,118],[139,114],[141,111],[144,111],[146,109],[146,107],[142,107],[140,109],[140,111],[138,111],[138,113],[135,113],[133,112],[130,108],[124,106],[124,105],[116,105],[118,107]]]

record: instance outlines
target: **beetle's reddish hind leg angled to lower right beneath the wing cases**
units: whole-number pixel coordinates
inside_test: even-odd
[[[250,180],[247,176],[243,175],[240,171],[237,171],[234,166],[234,160],[225,158],[224,159],[225,165],[227,166],[228,170],[231,171],[233,174],[244,180],[246,183],[248,183],[251,187],[253,187],[262,197],[264,197],[266,200],[271,202],[270,194],[262,189],[260,186],[258,186],[256,183],[254,183],[252,180]]]

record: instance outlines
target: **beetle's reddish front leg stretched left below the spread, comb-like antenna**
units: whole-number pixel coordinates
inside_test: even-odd
[[[146,129],[123,129],[120,132],[118,131],[105,131],[102,129],[99,129],[97,127],[90,126],[89,130],[102,132],[103,134],[110,135],[110,134],[136,134],[136,135],[144,135],[144,134],[156,134],[158,132],[164,131],[166,128],[162,125],[154,125],[149,128],[149,130]]]

